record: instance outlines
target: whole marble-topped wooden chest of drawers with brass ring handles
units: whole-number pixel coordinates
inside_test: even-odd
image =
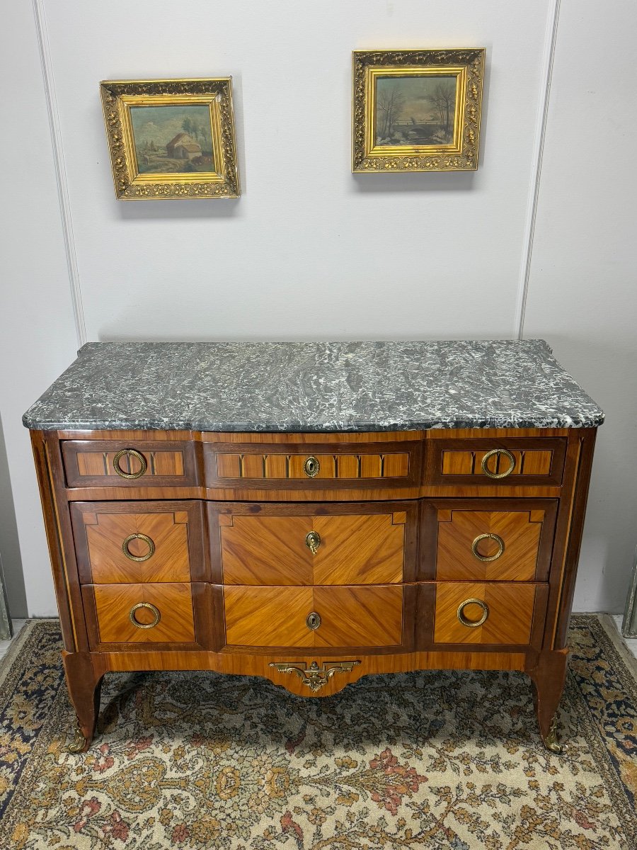
[[[90,343],[25,414],[76,748],[110,671],[456,668],[527,672],[557,749],[603,414],[545,343],[198,344]]]

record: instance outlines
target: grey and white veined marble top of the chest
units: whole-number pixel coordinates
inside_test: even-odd
[[[541,339],[87,343],[27,428],[590,428],[604,414]]]

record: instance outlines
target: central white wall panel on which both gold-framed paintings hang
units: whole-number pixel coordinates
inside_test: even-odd
[[[88,336],[511,336],[546,9],[47,0]],[[480,169],[353,177],[352,49],[465,45],[487,48]],[[98,81],[215,74],[245,195],[116,201]]]

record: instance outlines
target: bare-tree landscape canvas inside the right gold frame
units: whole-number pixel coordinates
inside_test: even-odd
[[[457,77],[378,77],[376,144],[451,144]]]

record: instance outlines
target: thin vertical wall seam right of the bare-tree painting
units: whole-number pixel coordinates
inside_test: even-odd
[[[546,37],[544,39],[544,59],[540,100],[538,104],[538,120],[535,127],[533,143],[532,168],[529,180],[527,201],[527,218],[524,224],[522,256],[520,264],[520,280],[518,282],[516,317],[514,334],[518,339],[524,337],[524,317],[527,310],[528,284],[531,275],[531,259],[533,257],[533,239],[535,236],[535,221],[538,212],[539,187],[542,178],[542,159],[544,156],[544,139],[549,115],[550,84],[553,77],[553,61],[555,58],[555,41],[557,26],[560,20],[561,0],[551,0],[546,22]]]

